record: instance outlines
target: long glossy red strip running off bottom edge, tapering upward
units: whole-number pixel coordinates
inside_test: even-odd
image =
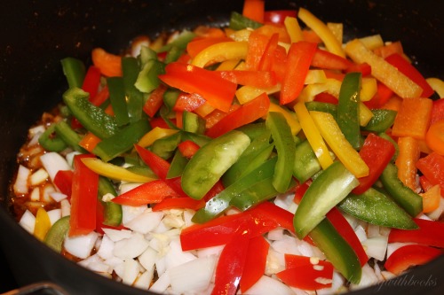
[[[237,226],[233,237],[228,240],[224,250],[220,253],[211,295],[234,295],[236,293],[249,250],[249,223],[249,221],[244,221]]]

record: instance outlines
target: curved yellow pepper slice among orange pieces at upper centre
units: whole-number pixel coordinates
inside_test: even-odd
[[[222,42],[213,44],[199,52],[191,61],[193,66],[210,66],[230,59],[245,59],[248,42]]]

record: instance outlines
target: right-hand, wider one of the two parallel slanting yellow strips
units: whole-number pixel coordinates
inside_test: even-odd
[[[357,178],[369,175],[369,167],[361,159],[358,151],[354,150],[352,144],[346,140],[333,115],[311,111],[310,116],[337,159]]]

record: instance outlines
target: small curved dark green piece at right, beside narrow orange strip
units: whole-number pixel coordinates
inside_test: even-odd
[[[390,197],[412,217],[423,212],[423,198],[400,181],[398,167],[388,163],[379,177]]]

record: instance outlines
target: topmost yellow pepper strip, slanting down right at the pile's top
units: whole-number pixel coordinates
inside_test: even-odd
[[[312,12],[307,11],[305,8],[299,8],[297,17],[304,21],[307,27],[310,27],[314,33],[319,35],[327,50],[340,57],[345,58],[345,52],[342,49],[342,44],[337,41],[337,38],[329,30],[326,24],[321,19],[316,18]]]

